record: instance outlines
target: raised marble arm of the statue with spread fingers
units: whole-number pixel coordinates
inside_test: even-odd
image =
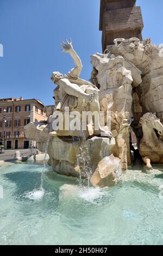
[[[80,73],[82,71],[82,62],[78,56],[78,54],[76,53],[76,51],[73,50],[73,46],[72,46],[72,40],[70,39],[70,42],[68,42],[68,40],[66,40],[67,43],[65,43],[64,41],[62,41],[61,46],[64,48],[64,50],[62,50],[62,52],[66,52],[66,53],[70,53],[71,57],[74,60],[74,64],[76,65],[75,68],[73,68],[69,74],[71,74],[72,76],[75,77],[79,77]]]

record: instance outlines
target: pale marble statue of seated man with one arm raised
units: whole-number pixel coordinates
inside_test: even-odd
[[[85,102],[89,108],[90,112],[100,112],[99,100],[98,100],[98,88],[90,82],[87,82],[83,79],[80,79],[80,73],[82,71],[82,62],[74,51],[72,46],[72,41],[70,42],[66,40],[62,42],[61,46],[63,47],[62,52],[70,53],[71,57],[74,60],[75,68],[71,69],[65,77],[60,72],[53,72],[52,81],[58,85],[57,90],[57,99],[55,95],[55,100],[58,100],[57,110],[64,111],[64,107],[72,106],[72,101],[75,102]],[[73,97],[73,100],[72,100]],[[70,100],[71,99],[71,100]],[[78,103],[79,105],[79,103]],[[96,119],[96,127],[99,127],[98,130],[94,130],[94,135],[102,135],[112,137],[110,131],[106,131],[102,129],[102,127],[97,124]],[[95,117],[93,118],[93,123],[95,126]]]

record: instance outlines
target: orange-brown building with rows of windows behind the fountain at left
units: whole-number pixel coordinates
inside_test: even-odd
[[[32,142],[24,135],[24,126],[30,122],[47,120],[41,101],[20,98],[0,99],[0,144],[4,129],[5,149],[27,149]],[[4,109],[6,110],[4,117]]]

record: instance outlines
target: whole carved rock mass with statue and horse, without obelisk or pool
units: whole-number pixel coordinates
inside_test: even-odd
[[[79,78],[82,62],[72,41],[62,42],[75,68],[53,72],[55,106],[47,123],[30,123],[26,137],[49,155],[54,172],[113,186],[131,165],[131,133],[147,169],[162,163],[162,48],[150,39],[115,39],[104,54],[91,56],[90,82]],[[161,119],[161,120],[160,120]],[[48,141],[48,147],[47,147]]]

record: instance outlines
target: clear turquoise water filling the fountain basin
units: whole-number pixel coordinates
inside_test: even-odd
[[[163,245],[163,173],[128,170],[102,190],[49,168],[40,190],[42,168],[0,166],[1,245]]]

